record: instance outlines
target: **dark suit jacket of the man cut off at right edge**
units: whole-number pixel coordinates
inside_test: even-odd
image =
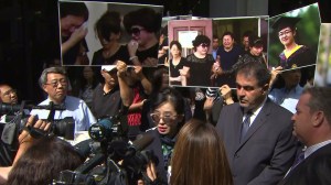
[[[298,164],[279,185],[330,185],[331,143],[327,144]]]

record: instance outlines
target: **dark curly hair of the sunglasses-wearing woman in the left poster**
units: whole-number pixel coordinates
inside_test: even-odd
[[[124,17],[124,25],[128,33],[132,25],[140,25],[148,32],[158,33],[161,29],[162,15],[151,8],[131,11]]]

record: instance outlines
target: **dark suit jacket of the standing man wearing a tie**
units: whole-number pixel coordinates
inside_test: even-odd
[[[274,185],[291,166],[296,154],[292,113],[267,99],[239,142],[239,104],[223,107],[216,130],[224,141],[234,185]]]

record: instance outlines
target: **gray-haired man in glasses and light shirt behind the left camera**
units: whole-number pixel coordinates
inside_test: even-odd
[[[62,67],[45,68],[39,79],[40,87],[49,95],[40,106],[54,105],[65,106],[65,110],[55,110],[54,119],[72,117],[75,120],[75,131],[85,131],[96,122],[95,117],[84,100],[67,96],[68,79]],[[31,115],[38,115],[40,119],[47,119],[50,110],[33,109]]]

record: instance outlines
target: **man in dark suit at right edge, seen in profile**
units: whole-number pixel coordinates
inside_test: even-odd
[[[306,144],[305,157],[280,185],[331,184],[331,88],[305,89],[292,116],[293,134]]]

